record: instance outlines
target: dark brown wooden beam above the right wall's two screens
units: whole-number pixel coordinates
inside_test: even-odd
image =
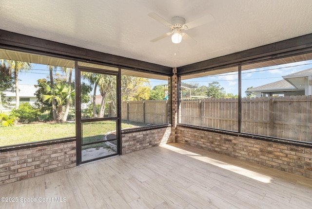
[[[177,68],[177,74],[179,76],[187,75],[205,70],[233,67],[239,64],[249,64],[307,52],[312,52],[312,34],[185,65]]]

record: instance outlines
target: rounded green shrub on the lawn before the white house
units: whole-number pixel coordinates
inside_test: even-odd
[[[20,104],[18,109],[13,109],[11,115],[18,118],[19,122],[28,123],[39,121],[39,109],[29,103]]]

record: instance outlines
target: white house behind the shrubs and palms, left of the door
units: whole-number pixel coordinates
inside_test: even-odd
[[[30,104],[35,104],[35,102],[37,101],[37,98],[35,96],[35,93],[37,91],[38,88],[36,88],[34,85],[19,85],[19,89],[20,89],[20,104],[23,103],[30,103]],[[11,97],[12,98],[12,108],[15,107],[16,104],[16,95],[15,92],[11,92],[11,91],[5,91],[5,96],[6,97]],[[3,111],[10,111],[10,109],[6,109],[4,108]]]

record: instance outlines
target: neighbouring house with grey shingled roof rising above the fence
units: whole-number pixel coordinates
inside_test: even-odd
[[[312,68],[282,76],[283,80],[248,89],[256,97],[312,95]]]

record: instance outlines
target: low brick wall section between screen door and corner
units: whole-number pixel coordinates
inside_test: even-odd
[[[142,130],[122,134],[121,154],[174,142],[173,127]]]

